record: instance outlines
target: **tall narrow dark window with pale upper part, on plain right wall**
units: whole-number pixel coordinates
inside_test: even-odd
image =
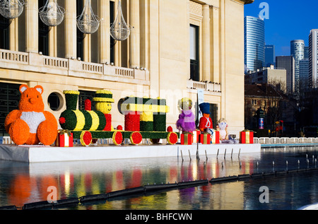
[[[190,78],[199,81],[199,27],[190,25]]]

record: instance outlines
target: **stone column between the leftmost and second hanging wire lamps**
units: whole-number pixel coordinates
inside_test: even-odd
[[[37,0],[28,0],[25,5],[25,51],[39,52],[39,11]]]

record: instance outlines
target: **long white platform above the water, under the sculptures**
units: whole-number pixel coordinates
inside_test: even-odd
[[[90,146],[90,147],[45,147],[0,145],[0,160],[25,163],[45,163],[83,160],[113,160],[129,158],[158,158],[199,155],[231,155],[238,153],[260,153],[261,144],[212,144],[212,145],[142,145],[142,146]]]

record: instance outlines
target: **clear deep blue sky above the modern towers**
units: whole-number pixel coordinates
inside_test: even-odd
[[[255,0],[245,6],[245,16],[257,17],[267,3],[265,19],[266,45],[275,45],[276,56],[290,55],[290,40],[304,40],[308,46],[310,30],[318,29],[317,0]]]

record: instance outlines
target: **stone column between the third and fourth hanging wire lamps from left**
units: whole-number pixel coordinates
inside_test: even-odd
[[[100,63],[110,63],[110,0],[98,0],[98,60]]]

